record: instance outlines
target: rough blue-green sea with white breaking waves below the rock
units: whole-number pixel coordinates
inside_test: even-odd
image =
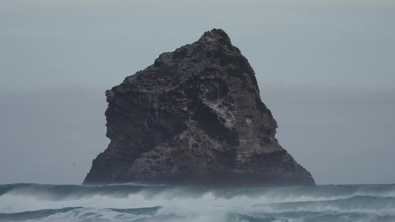
[[[0,185],[0,221],[395,222],[395,184],[283,188]]]

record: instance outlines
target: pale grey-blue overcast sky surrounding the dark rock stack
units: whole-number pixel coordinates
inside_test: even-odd
[[[394,11],[393,0],[2,0],[0,184],[80,184],[109,143],[104,91],[212,28],[248,58],[280,145],[317,184],[395,183]]]

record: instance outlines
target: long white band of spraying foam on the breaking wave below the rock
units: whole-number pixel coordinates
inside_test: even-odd
[[[111,195],[89,195],[75,198],[73,196],[66,197],[61,200],[51,200],[45,194],[18,194],[17,192],[9,192],[0,196],[0,212],[15,213],[23,211],[36,211],[40,209],[60,209],[64,207],[90,207],[90,208],[141,208],[141,207],[171,207],[174,204],[199,209],[221,208],[227,206],[228,208],[241,208],[256,204],[269,203],[286,203],[286,202],[301,202],[301,201],[331,201],[336,199],[347,199],[361,194],[362,192],[355,192],[342,196],[333,197],[314,197],[314,196],[293,196],[286,198],[278,197],[273,194],[257,195],[256,197],[249,196],[234,196],[230,199],[219,198],[213,192],[207,192],[198,197],[189,197],[176,195],[175,190],[164,190],[154,195],[147,195],[144,191],[135,194],[129,194],[125,197],[119,198]],[[393,195],[382,195],[380,197],[393,197]],[[186,210],[186,209],[185,209]]]

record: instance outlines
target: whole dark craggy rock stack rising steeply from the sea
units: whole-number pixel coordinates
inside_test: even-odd
[[[275,138],[247,59],[221,29],[106,91],[108,148],[83,184],[315,185]]]

